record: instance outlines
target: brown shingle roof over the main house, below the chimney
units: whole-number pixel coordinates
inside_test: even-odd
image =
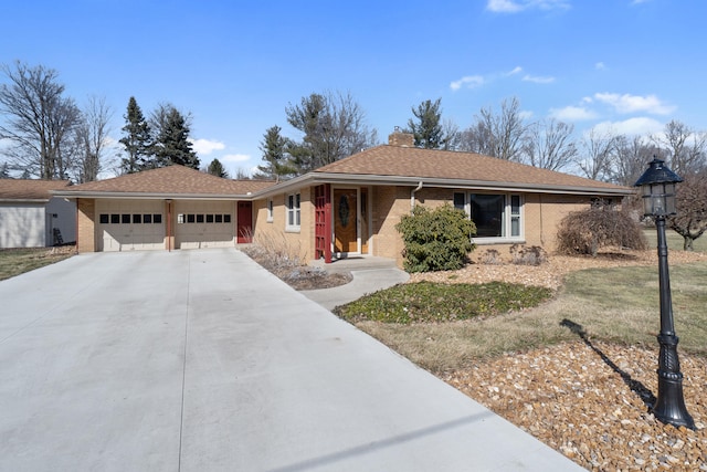
[[[320,167],[315,172],[472,180],[525,186],[622,189],[622,187],[608,182],[539,169],[475,153],[389,145],[363,150]]]

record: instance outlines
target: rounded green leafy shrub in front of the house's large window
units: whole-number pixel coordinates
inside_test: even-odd
[[[444,204],[434,210],[418,206],[401,218],[395,229],[402,235],[408,272],[454,271],[474,250],[476,225],[462,210]]]

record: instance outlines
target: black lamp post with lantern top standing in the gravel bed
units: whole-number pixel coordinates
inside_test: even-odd
[[[675,172],[653,158],[648,169],[634,183],[641,187],[643,214],[655,219],[658,235],[658,284],[661,291],[661,345],[658,355],[658,395],[653,406],[653,415],[658,421],[675,427],[695,429],[695,422],[685,408],[683,398],[683,374],[677,358],[677,342],[673,325],[673,300],[671,276],[667,269],[667,242],[665,240],[665,217],[675,214],[675,183],[682,182]]]

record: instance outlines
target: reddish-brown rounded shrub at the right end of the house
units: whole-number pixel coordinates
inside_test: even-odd
[[[646,249],[645,235],[627,212],[611,206],[593,206],[569,213],[560,222],[558,252],[563,254],[597,255],[600,248],[618,245],[627,249]]]

